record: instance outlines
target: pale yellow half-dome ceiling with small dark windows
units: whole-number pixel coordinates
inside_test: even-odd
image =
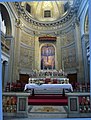
[[[31,1],[21,2],[20,5],[30,17],[41,22],[50,22],[64,16],[72,3],[73,0]]]

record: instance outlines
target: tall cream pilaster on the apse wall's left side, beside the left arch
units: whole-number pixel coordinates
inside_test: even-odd
[[[15,25],[15,38],[14,38],[14,48],[13,48],[13,77],[12,80],[19,80],[19,67],[20,67],[20,40],[21,40],[21,26],[20,19],[16,21]]]

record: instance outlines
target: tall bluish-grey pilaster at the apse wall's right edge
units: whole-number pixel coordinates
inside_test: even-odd
[[[83,73],[80,25],[78,20],[75,20],[74,22],[74,39],[75,39],[75,47],[76,47],[77,81],[81,83],[84,81],[84,73]]]

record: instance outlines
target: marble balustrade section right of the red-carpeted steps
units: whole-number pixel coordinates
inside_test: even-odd
[[[67,93],[68,117],[91,117],[90,93]]]

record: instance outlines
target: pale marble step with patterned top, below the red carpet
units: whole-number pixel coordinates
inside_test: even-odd
[[[67,118],[67,111],[63,106],[30,106],[28,118]]]

